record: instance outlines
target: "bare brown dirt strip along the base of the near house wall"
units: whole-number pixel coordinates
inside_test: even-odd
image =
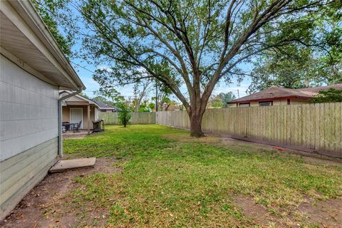
[[[121,172],[115,167],[113,158],[98,158],[93,168],[68,170],[47,175],[31,192],[21,200],[9,217],[0,222],[1,227],[76,227],[85,220],[66,207],[68,193],[78,186],[74,177],[83,177],[93,173]],[[85,212],[86,219],[100,219],[105,224],[106,213],[102,209]],[[88,224],[91,224],[89,222]]]

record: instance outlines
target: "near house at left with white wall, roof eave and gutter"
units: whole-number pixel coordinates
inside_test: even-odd
[[[0,219],[62,153],[60,89],[85,89],[30,1],[0,4]]]

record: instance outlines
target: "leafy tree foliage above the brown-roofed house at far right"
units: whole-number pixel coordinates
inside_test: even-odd
[[[314,23],[302,29],[314,40],[311,46],[292,43],[256,58],[247,91],[255,93],[270,86],[304,88],[342,83],[341,9],[342,1],[335,1],[307,16]]]

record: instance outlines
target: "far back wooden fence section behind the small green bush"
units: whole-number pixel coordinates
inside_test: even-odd
[[[155,113],[130,113],[130,123],[132,124],[154,124]],[[118,125],[118,113],[99,113],[100,120],[104,120],[106,125]]]

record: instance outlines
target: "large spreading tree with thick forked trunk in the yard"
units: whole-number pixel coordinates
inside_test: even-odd
[[[103,80],[156,78],[182,102],[190,134],[202,136],[202,116],[219,81],[244,75],[239,64],[291,43],[314,45],[311,14],[333,1],[83,0],[86,57],[108,63]],[[141,76],[141,68],[147,74]],[[180,86],[187,92],[183,93]]]

